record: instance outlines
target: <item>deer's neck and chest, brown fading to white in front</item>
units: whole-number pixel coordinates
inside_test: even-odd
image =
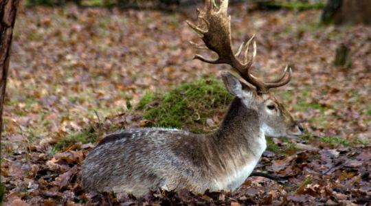
[[[258,113],[235,98],[208,145],[205,157],[210,158],[208,171],[215,171],[214,188],[235,190],[251,174],[267,148]]]

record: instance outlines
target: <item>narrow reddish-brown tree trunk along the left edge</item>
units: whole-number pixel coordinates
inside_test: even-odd
[[[19,0],[0,1],[0,137],[3,131],[3,104],[8,77],[10,45]]]

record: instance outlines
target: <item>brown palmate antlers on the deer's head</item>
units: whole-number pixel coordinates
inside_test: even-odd
[[[257,93],[267,93],[271,88],[287,84],[291,80],[291,68],[288,66],[284,69],[282,76],[272,82],[262,82],[250,73],[251,65],[256,56],[254,36],[249,41],[243,42],[234,54],[232,51],[231,16],[228,16],[227,9],[228,0],[221,0],[219,6],[216,5],[215,0],[205,0],[203,10],[197,10],[199,12],[198,25],[187,21],[188,25],[199,34],[205,45],[190,43],[198,49],[210,49],[218,54],[216,60],[208,60],[198,54],[194,58],[211,64],[231,65],[244,80],[256,87]],[[253,42],[254,51],[252,55],[249,55],[251,42]],[[243,54],[242,59],[240,58],[241,54]]]

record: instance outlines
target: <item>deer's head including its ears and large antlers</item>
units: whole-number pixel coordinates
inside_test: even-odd
[[[302,135],[303,128],[294,121],[283,104],[269,92],[269,89],[282,87],[291,80],[291,68],[286,67],[282,75],[271,82],[263,82],[251,74],[251,65],[256,56],[256,42],[254,36],[243,42],[236,54],[232,51],[232,37],[230,16],[227,14],[228,0],[221,0],[217,6],[215,0],[205,0],[203,10],[198,10],[198,25],[187,21],[195,30],[204,45],[196,45],[197,49],[210,49],[218,54],[215,60],[209,60],[196,55],[195,59],[211,64],[227,64],[236,71],[242,80],[228,71],[221,73],[227,90],[239,98],[244,106],[258,113],[260,127],[265,135],[271,137],[297,137]],[[253,43],[253,52],[250,54],[250,45]]]

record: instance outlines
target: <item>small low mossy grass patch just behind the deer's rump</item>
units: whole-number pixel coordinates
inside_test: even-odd
[[[86,128],[85,130],[82,130],[79,133],[67,135],[66,137],[63,137],[60,139],[52,148],[50,153],[55,153],[58,150],[63,150],[63,148],[67,148],[73,144],[76,144],[78,142],[82,144],[87,144],[89,142],[94,142],[98,139],[98,131],[93,128],[93,126],[89,126],[89,128]]]

